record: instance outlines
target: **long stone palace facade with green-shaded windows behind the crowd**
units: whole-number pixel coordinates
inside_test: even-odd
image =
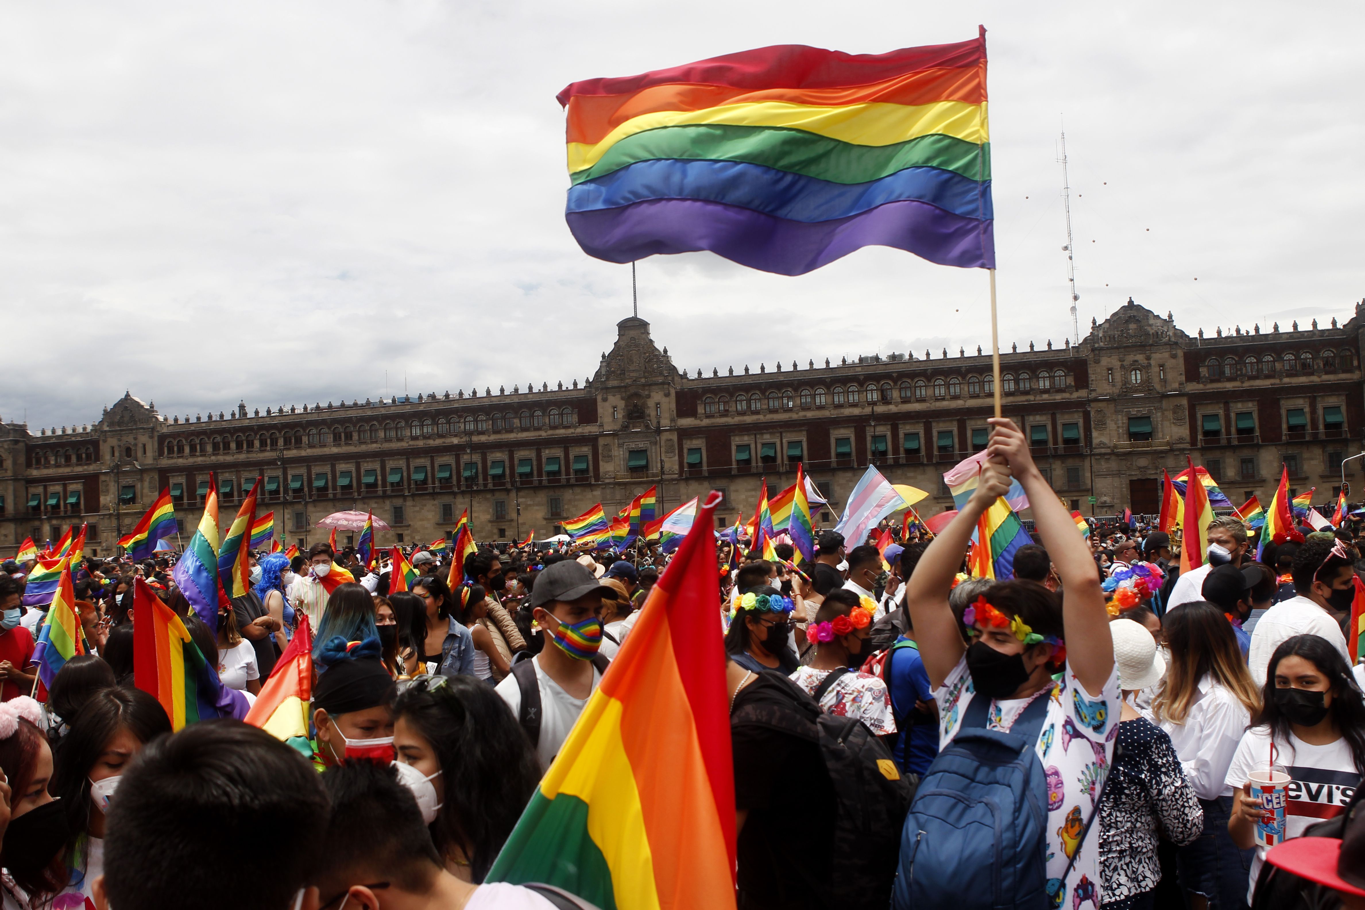
[[[1156,512],[1162,471],[1186,457],[1237,505],[1269,502],[1282,464],[1321,503],[1361,452],[1362,330],[1357,307],[1345,326],[1189,336],[1129,300],[1080,345],[1003,351],[1005,412],[1085,514]],[[210,472],[224,527],[259,476],[258,514],[274,510],[300,547],[325,539],[314,524],[341,509],[389,523],[381,546],[440,538],[464,509],[479,540],[543,538],[598,501],[610,516],[655,483],[663,509],[722,491],[726,525],[751,514],[760,479],[770,493],[789,486],[797,461],[830,499],[826,524],[870,463],[927,490],[927,517],[951,506],[940,473],[986,445],[992,392],[984,348],[689,374],[646,321],[628,318],[581,387],[265,413],[242,402],[192,417],[124,394],[90,426],[0,424],[0,554],[85,521],[87,553],[108,555],[167,487],[192,533]],[[1345,478],[1358,467],[1346,461]]]

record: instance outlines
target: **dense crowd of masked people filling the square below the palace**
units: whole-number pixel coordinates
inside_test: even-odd
[[[1033,543],[1013,577],[972,577],[1013,482]],[[1257,555],[1220,517],[1181,572],[1182,542],[1140,521],[1080,533],[1007,420],[936,536],[879,536],[818,531],[809,559],[785,538],[775,561],[717,547],[738,907],[1365,907],[1365,540],[1305,528]],[[169,558],[87,558],[86,654],[48,688],[48,607],[5,562],[4,910],[590,906],[487,877],[667,555],[411,565],[396,584],[326,543],[259,554],[213,630]],[[141,584],[246,705],[307,617],[307,745],[233,719],[172,731],[135,685]]]

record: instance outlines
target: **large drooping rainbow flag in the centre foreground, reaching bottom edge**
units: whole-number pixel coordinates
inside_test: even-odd
[[[734,772],[711,531],[718,501],[713,493],[698,509],[489,881],[542,881],[603,909],[733,910]]]

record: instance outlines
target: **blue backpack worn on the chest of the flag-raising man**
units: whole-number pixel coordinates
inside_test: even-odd
[[[893,910],[1052,906],[1047,779],[1036,750],[1047,703],[1035,699],[1003,733],[986,729],[991,700],[972,699],[905,817]]]

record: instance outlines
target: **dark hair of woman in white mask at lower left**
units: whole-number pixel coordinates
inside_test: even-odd
[[[199,625],[203,626],[202,622]],[[207,626],[203,628],[207,630]],[[165,708],[142,689],[100,689],[70,723],[71,733],[63,737],[52,756],[52,783],[48,786],[48,793],[66,806],[71,827],[68,857],[90,821],[90,769],[109,738],[126,727],[146,745],[162,733],[171,733]]]

